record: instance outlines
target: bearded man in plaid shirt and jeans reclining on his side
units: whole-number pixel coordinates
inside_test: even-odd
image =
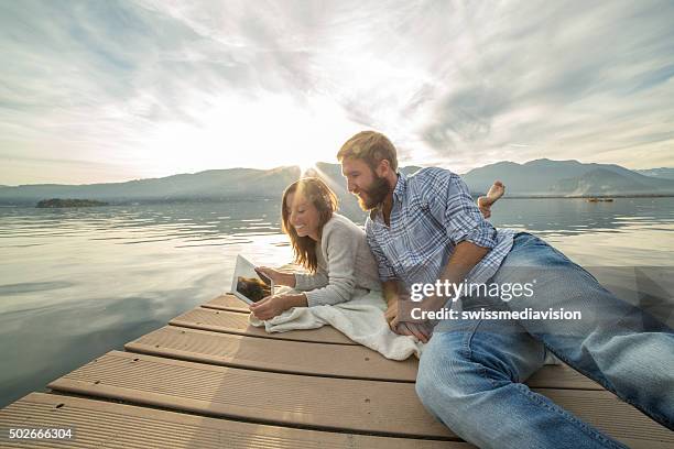
[[[456,174],[399,173],[395,147],[384,135],[360,132],[337,157],[349,191],[370,211],[368,242],[384,286],[387,319],[398,332],[427,340],[432,324],[399,310],[409,304],[399,299],[415,284],[438,281],[453,292],[418,303],[426,311],[459,296],[457,286],[466,280],[501,293],[464,295],[454,305],[463,311],[564,307],[583,315],[566,321],[460,315],[439,321],[422,355],[416,391],[453,431],[481,448],[623,448],[522,383],[541,368],[546,351],[674,429],[672,329],[615,297],[541,239],[494,229]],[[533,294],[506,300],[504,287],[515,284],[533,286]]]

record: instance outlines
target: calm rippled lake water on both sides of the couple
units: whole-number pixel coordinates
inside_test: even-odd
[[[674,277],[674,198],[503,199],[491,221],[586,266]],[[280,232],[274,200],[0,208],[0,406],[226,292],[238,253],[290,262]]]

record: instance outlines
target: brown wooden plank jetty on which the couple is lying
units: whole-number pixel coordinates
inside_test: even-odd
[[[2,447],[472,448],[414,392],[417,361],[395,362],[330,327],[267,333],[222,295],[0,410],[0,428],[74,428],[72,440]],[[567,366],[528,384],[632,448],[674,432]]]

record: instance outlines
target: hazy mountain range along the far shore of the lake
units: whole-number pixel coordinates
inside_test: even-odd
[[[406,174],[417,169],[417,166],[402,168]],[[338,164],[318,163],[316,173],[328,179],[340,198],[355,205]],[[0,205],[30,205],[48,198],[113,204],[278,198],[300,174],[295,166],[229,168],[127,183],[0,186]],[[509,196],[674,195],[674,168],[631,171],[613,164],[542,158],[524,164],[499,162],[461,176],[476,195],[485,193],[494,179],[506,184]]]

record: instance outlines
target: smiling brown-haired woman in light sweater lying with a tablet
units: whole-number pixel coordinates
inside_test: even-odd
[[[503,190],[503,185],[496,182],[486,197],[478,198],[486,218]],[[282,229],[290,237],[295,262],[308,274],[258,267],[274,284],[292,287],[297,293],[273,295],[253,303],[250,310],[256,317],[267,320],[292,307],[334,305],[370,291],[381,291],[377,261],[365,231],[336,211],[337,196],[319,178],[302,178],[283,191]]]

